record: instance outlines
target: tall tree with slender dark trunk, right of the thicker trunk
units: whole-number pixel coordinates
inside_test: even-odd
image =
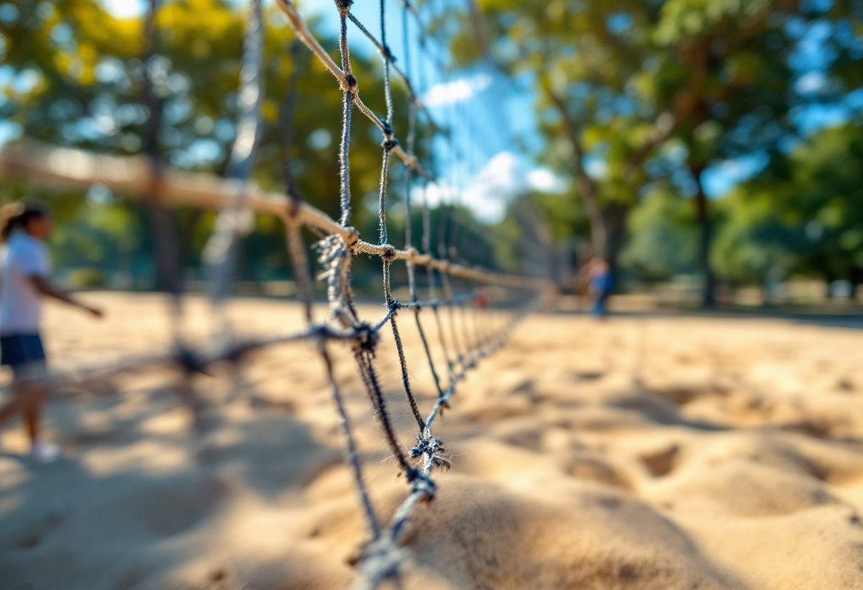
[[[703,173],[717,160],[741,154],[776,156],[780,141],[795,133],[788,117],[801,102],[794,91],[791,58],[802,39],[789,26],[805,28],[823,11],[793,1],[668,0],[655,33],[670,50],[646,82],[657,104],[675,104],[680,89],[688,104],[677,110],[674,137],[686,148],[694,181],[700,230],[702,304],[715,304],[710,264],[713,227]]]

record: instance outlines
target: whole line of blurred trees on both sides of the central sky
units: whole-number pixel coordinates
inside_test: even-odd
[[[490,64],[534,98],[542,140],[535,159],[569,186],[532,196],[558,240],[578,236],[635,279],[699,273],[704,304],[713,303],[717,280],[803,274],[863,282],[863,1],[467,5],[472,10],[435,11],[431,30],[463,66]],[[171,166],[223,174],[244,7],[150,6],[150,18],[123,19],[96,0],[0,3],[3,129],[11,123],[17,134],[57,145],[152,153]],[[341,92],[285,19],[267,11],[264,132],[252,176],[274,191],[290,178],[334,214]],[[312,29],[337,53],[319,23]],[[380,84],[380,60],[352,57],[365,87]],[[394,90],[404,104],[403,89]],[[363,97],[384,110],[381,92]],[[813,129],[807,122],[819,106],[840,116]],[[406,110],[395,112],[395,128],[406,129],[399,118]],[[429,136],[420,129],[420,152],[430,149]],[[363,233],[374,232],[375,214],[362,203],[376,198],[379,142],[371,124],[354,117],[351,182]],[[749,162],[754,174],[709,198],[710,174],[728,162]],[[394,200],[400,190],[391,183]],[[66,221],[55,244],[60,266],[152,269],[146,208],[98,187],[85,195],[19,181],[0,191],[3,200],[35,195],[54,204]],[[521,210],[517,200],[510,217]],[[195,267],[214,213],[171,216],[182,262]],[[467,211],[460,216],[474,223]],[[498,231],[505,241],[506,226]],[[259,217],[243,243],[241,274],[265,279],[287,268],[285,257],[279,224]]]

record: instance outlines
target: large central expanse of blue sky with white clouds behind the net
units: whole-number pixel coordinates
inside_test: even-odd
[[[265,5],[272,0],[264,0]],[[104,0],[117,15],[141,16],[146,9],[141,0]],[[459,7],[462,5],[460,4]],[[381,39],[380,4],[372,0],[358,1],[351,13],[366,28]],[[404,70],[412,72],[412,83],[421,100],[429,108],[435,122],[453,129],[451,141],[438,136],[435,154],[438,158],[439,181],[431,187],[426,197],[431,204],[440,201],[456,201],[468,204],[478,217],[494,221],[503,215],[507,198],[526,188],[538,190],[562,190],[559,179],[544,168],[532,165],[523,155],[516,155],[513,135],[535,136],[535,122],[530,110],[531,97],[514,91],[505,80],[495,77],[482,68],[476,72],[464,72],[448,77],[440,72],[436,63],[449,60],[447,49],[433,40],[426,43],[426,55],[420,50],[419,29],[413,17],[408,17],[407,37],[410,45],[411,63],[406,65],[405,42],[402,28],[401,3],[391,0],[386,3],[387,45]],[[320,27],[333,37],[338,35],[340,20],[332,0],[305,0],[298,2],[300,13],[306,18],[318,17]],[[352,53],[364,57],[377,55],[377,49],[353,23],[348,23],[348,36]],[[422,72],[419,72],[422,68]],[[380,87],[362,84],[362,92],[382,91]],[[489,108],[488,95],[506,95],[501,110]],[[527,103],[525,105],[525,103]],[[527,106],[528,108],[524,108]],[[396,105],[396,109],[404,105]],[[519,115],[520,111],[522,114]],[[524,113],[528,113],[525,116]],[[379,113],[382,115],[382,113]],[[515,125],[510,124],[515,122]],[[396,136],[403,139],[403,130],[396,129]]]

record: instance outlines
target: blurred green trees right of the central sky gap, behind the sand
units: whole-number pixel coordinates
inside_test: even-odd
[[[702,302],[795,273],[863,282],[863,2],[479,0],[440,23],[466,63],[493,56],[536,97],[543,199],[558,235],[639,279],[697,270]],[[814,133],[817,108],[841,124]],[[710,168],[761,168],[725,198]],[[566,220],[562,223],[561,220]]]

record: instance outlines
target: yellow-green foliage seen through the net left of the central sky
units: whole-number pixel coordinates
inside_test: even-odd
[[[111,16],[96,0],[17,0],[14,6],[15,10],[3,13],[9,18],[0,19],[3,68],[13,79],[0,89],[0,119],[18,125],[22,135],[55,145],[141,153],[150,116],[143,98],[142,60],[148,41],[142,19]],[[289,156],[299,192],[336,216],[342,91],[305,47],[293,59],[293,31],[287,19],[272,5],[266,12],[263,126],[252,176],[268,190],[283,190],[283,166]],[[148,68],[161,103],[158,151],[170,165],[225,172],[235,135],[245,21],[243,3],[162,3]],[[311,26],[313,31],[317,28],[314,22]],[[335,40],[315,33],[337,55]],[[363,101],[375,112],[383,112],[380,60],[358,53],[352,60]],[[295,69],[299,75],[293,148],[286,154],[285,107]],[[394,100],[397,105],[406,104],[398,81],[394,81]],[[397,108],[396,113],[394,129],[402,136],[406,109]],[[381,139],[380,131],[366,117],[353,117],[351,189],[357,204],[378,190]],[[399,179],[401,171],[402,166],[394,164],[393,178]],[[393,202],[400,199],[402,186],[398,181],[391,183]],[[3,201],[35,194],[55,205],[61,222],[53,242],[60,266],[100,262],[108,272],[131,268],[145,283],[152,276],[152,236],[146,210],[128,204],[122,195],[115,196],[111,204],[100,204],[85,199],[81,191],[42,191],[22,183],[0,187]],[[173,220],[180,242],[188,248],[184,263],[197,267],[214,216],[178,210]],[[355,205],[351,221],[368,233],[375,216]],[[246,240],[241,256],[239,267],[247,279],[284,275],[288,265],[283,229],[274,219],[259,217],[257,231]]]

